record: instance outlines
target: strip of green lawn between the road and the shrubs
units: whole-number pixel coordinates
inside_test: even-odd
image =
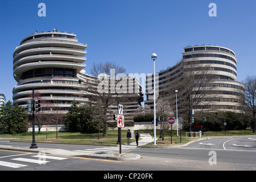
[[[139,134],[149,133],[151,136],[154,136],[154,130],[138,130]],[[187,131],[181,131],[181,143],[180,143],[180,131],[179,137],[176,136],[176,131],[172,130],[172,145],[175,144],[185,144],[196,138],[186,138],[185,133]],[[126,139],[127,130],[122,130],[122,144],[127,143]],[[117,130],[108,130],[107,137],[102,137],[100,133],[100,139],[98,139],[98,133],[68,133],[68,132],[58,132],[58,139],[56,139],[56,131],[41,132],[41,134],[35,133],[36,142],[48,142],[48,143],[73,143],[73,144],[113,144],[117,143]],[[235,136],[235,135],[256,135],[252,130],[233,130],[226,131],[226,136]],[[214,136],[225,136],[225,131],[205,131],[203,137],[214,137]],[[171,131],[165,131],[164,141],[160,137],[160,130],[156,130],[156,144],[158,146],[168,146],[171,144]],[[15,140],[22,142],[32,142],[32,132],[23,133],[23,134],[0,134],[0,140]],[[135,139],[131,139],[131,142],[134,142]],[[147,144],[149,146],[154,143]]]

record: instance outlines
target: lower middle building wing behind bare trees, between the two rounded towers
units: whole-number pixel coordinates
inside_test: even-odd
[[[97,102],[98,97],[105,97],[109,100],[108,115],[112,118],[112,114],[117,114],[117,104],[123,105],[123,115],[126,121],[133,121],[133,116],[137,112],[137,108],[143,102],[142,86],[137,78],[133,77],[110,77],[109,75],[92,76],[85,73],[84,70],[80,71],[77,75],[80,78],[81,84],[86,85],[86,94],[83,97],[91,102]],[[113,79],[113,83],[112,83]],[[106,88],[101,88],[101,84],[106,84]],[[119,85],[119,86],[118,86]],[[103,85],[102,85],[103,86]],[[120,89],[121,88],[121,89]],[[115,90],[115,92],[111,92]]]

